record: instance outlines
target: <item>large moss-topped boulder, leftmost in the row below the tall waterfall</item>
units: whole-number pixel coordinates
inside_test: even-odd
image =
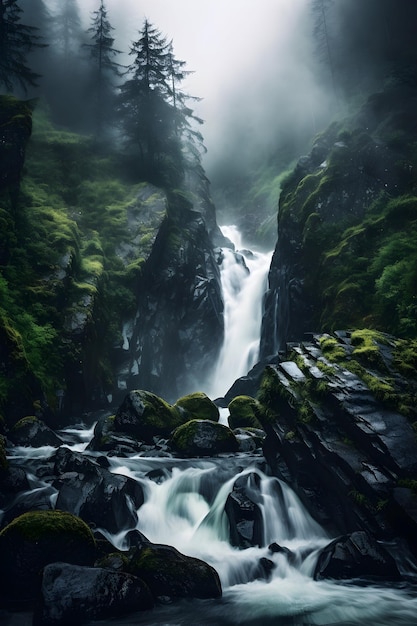
[[[153,437],[168,437],[184,421],[177,407],[150,391],[138,389],[123,400],[115,415],[114,429],[153,443]]]

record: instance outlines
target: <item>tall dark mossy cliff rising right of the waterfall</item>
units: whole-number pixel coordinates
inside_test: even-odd
[[[322,133],[283,185],[261,358],[306,332],[360,328],[369,319],[415,336],[413,290],[405,285],[416,279],[409,149],[416,103],[405,87],[375,94],[354,118]]]

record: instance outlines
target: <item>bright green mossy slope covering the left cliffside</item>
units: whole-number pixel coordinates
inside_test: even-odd
[[[14,121],[30,113],[28,107],[20,111],[19,101],[1,99],[3,116]],[[56,390],[66,388],[67,373],[79,362],[91,368],[92,384],[111,383],[120,320],[135,310],[144,258],[165,213],[162,200],[152,213],[155,194],[122,175],[117,154],[57,129],[42,106],[35,110],[14,208],[9,188],[0,188],[0,334],[12,359],[7,375],[0,372],[6,418],[19,380],[29,395],[36,387],[37,395],[46,393],[52,408]],[[132,220],[138,232],[132,232]],[[119,250],[135,236],[123,258]],[[74,332],[85,341],[72,342]]]

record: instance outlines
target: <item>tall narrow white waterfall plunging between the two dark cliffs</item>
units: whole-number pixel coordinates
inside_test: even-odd
[[[221,230],[234,243],[236,251],[223,250],[220,268],[225,332],[219,359],[207,386],[212,398],[224,395],[258,359],[262,302],[272,258],[272,252],[246,249],[236,226],[223,226]]]

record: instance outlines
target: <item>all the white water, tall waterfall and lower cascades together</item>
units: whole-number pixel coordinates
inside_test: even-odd
[[[236,233],[235,233],[236,234]],[[240,246],[238,246],[240,247]],[[258,258],[256,258],[258,256]],[[247,255],[246,265],[227,258],[222,268],[226,296],[227,329],[225,347],[213,378],[211,393],[223,394],[230,382],[247,371],[256,360],[260,313],[242,300],[257,298],[261,309],[268,269],[267,255]],[[261,257],[261,260],[259,260]],[[230,261],[230,263],[229,263]],[[236,269],[235,265],[240,267]],[[228,277],[229,270],[232,276]],[[244,272],[241,272],[241,268]],[[250,285],[252,277],[256,276]],[[236,277],[237,276],[237,277]],[[242,285],[241,283],[247,283]],[[223,282],[225,285],[225,282]],[[233,300],[233,294],[239,302]],[[249,295],[250,294],[250,295]],[[254,294],[257,294],[256,296]],[[227,301],[229,299],[229,301]],[[229,307],[229,308],[227,308]],[[245,308],[246,307],[246,308]],[[244,331],[245,340],[236,332],[233,309],[244,321],[248,311],[256,317],[253,327]],[[258,316],[259,315],[259,316]],[[240,326],[239,321],[239,326]],[[239,333],[243,332],[239,328]],[[237,363],[237,357],[239,364]],[[231,359],[228,361],[228,359]],[[226,362],[228,363],[226,365]],[[231,368],[231,372],[229,372]],[[231,378],[228,378],[228,375]],[[233,380],[232,380],[233,379]],[[221,384],[221,382],[223,383]],[[93,427],[76,425],[60,435],[72,450],[85,450]],[[32,480],[32,490],[43,489],[53,503],[55,489],[34,478],[37,459],[54,454],[53,448],[14,448],[15,463],[25,467]],[[92,453],[94,454],[94,453]],[[417,597],[410,586],[359,585],[344,582],[314,581],[312,573],[318,550],[332,539],[310,517],[295,493],[282,481],[268,475],[261,452],[223,455],[213,459],[129,458],[110,456],[110,470],[139,481],[145,503],[138,510],[137,529],[149,540],[176,547],[212,565],[222,583],[223,596],[217,600],[187,600],[158,606],[152,611],[95,624],[137,626],[412,626],[417,624]],[[151,478],[152,477],[152,478]],[[228,518],[224,512],[228,494],[237,478],[248,487],[256,485],[257,502],[262,513],[261,545],[239,549],[230,542]],[[26,494],[29,497],[29,493]],[[131,530],[131,529],[129,529]],[[104,534],[118,548],[126,546],[128,530]],[[279,544],[280,551],[268,546]],[[288,550],[286,550],[286,548]],[[260,564],[273,562],[269,576]],[[29,626],[29,616],[13,616],[8,625]]]

